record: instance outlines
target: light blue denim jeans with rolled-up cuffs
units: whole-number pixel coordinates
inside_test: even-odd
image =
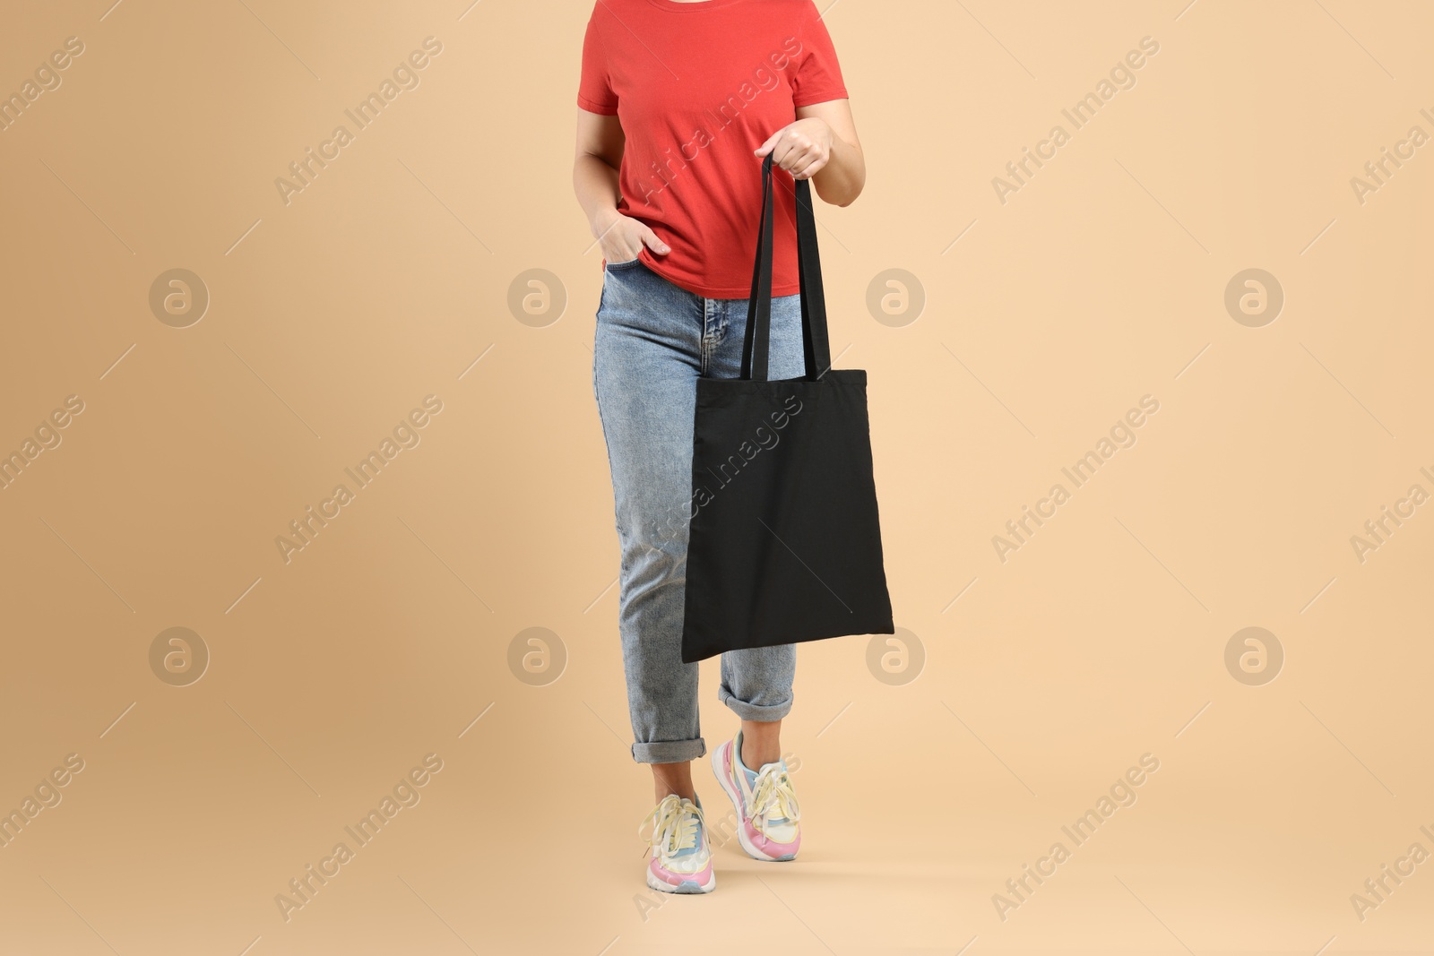
[[[704,298],[640,261],[609,262],[597,318],[592,391],[622,549],[618,632],[632,758],[683,763],[707,752],[697,664],[681,656],[697,378],[741,374],[747,300]],[[802,297],[774,297],[769,377],[804,371]],[[717,695],[741,720],[776,721],[792,709],[794,674],[796,645],[730,651]]]

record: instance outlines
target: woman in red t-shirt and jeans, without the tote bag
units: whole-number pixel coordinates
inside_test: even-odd
[[[592,387],[622,548],[618,625],[632,757],[651,764],[647,884],[716,886],[691,761],[697,665],[681,661],[698,376],[741,371],[761,159],[849,205],[866,166],[830,36],[812,0],[598,0],[582,46],[574,189],[602,247]],[[804,373],[793,183],[776,176],[771,378]],[[800,811],[782,718],[796,646],[721,658],[741,720],[713,752],[759,860],[792,860]]]

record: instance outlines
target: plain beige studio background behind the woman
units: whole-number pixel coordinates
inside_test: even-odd
[[[108,1],[0,30],[3,92],[85,44],[0,132],[0,450],[85,406],[0,490],[0,807],[85,763],[0,849],[0,952],[1434,950],[1434,863],[1364,920],[1349,899],[1434,851],[1434,506],[1364,562],[1349,540],[1434,492],[1434,145],[1351,188],[1434,135],[1428,4],[827,10],[870,169],[817,211],[833,351],[870,374],[905,629],[876,655],[906,669],[803,646],[800,861],[728,843],[714,896],[654,900],[569,185],[591,3]],[[427,36],[422,85],[285,205],[275,178]],[[1002,205],[992,178],[1144,36],[1136,86]],[[149,307],[172,268],[211,297],[185,328]],[[508,305],[535,268],[566,295],[538,327]],[[891,268],[915,321],[868,311]],[[1223,302],[1249,268],[1285,295],[1262,327]],[[285,563],[275,536],[429,394],[422,443]],[[1146,394],[1134,447],[1002,563],[991,537]],[[174,626],[211,654],[188,687],[149,664]],[[536,687],[508,664],[533,626]],[[1246,626],[1272,682],[1226,669]],[[285,922],[275,894],[430,752],[422,801]],[[1002,920],[1147,752],[1139,801]]]

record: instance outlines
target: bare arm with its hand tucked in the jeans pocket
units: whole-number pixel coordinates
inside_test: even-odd
[[[588,216],[588,228],[608,262],[627,262],[647,245],[657,255],[670,249],[647,225],[618,212],[618,166],[627,138],[617,116],[578,110],[578,146],[572,161],[572,191]]]

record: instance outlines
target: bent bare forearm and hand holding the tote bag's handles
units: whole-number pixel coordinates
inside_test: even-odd
[[[849,206],[866,185],[866,156],[856,138],[852,103],[835,99],[797,107],[797,122],[783,126],[756,150],[796,179],[810,179],[816,195]]]

